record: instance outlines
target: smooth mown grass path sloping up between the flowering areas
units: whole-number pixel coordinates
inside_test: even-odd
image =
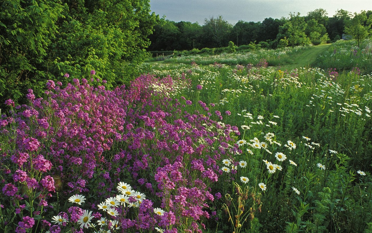
[[[306,50],[304,53],[295,54],[291,57],[292,62],[290,64],[284,64],[280,67],[282,70],[291,70],[298,67],[308,67],[311,66],[317,57],[324,53],[325,50],[330,47],[331,44],[322,44],[317,46],[312,46],[310,50]]]

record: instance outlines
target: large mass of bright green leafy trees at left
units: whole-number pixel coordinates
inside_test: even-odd
[[[0,104],[47,79],[96,77],[128,83],[147,56],[155,13],[148,0],[0,1]],[[63,78],[69,73],[70,78]]]

